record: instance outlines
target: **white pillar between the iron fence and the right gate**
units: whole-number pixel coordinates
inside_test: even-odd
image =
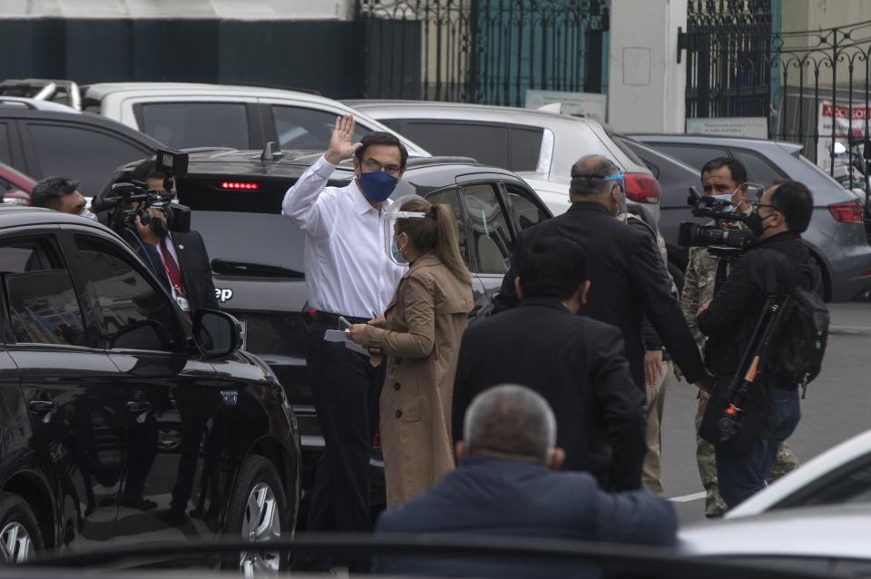
[[[687,0],[612,0],[608,122],[618,131],[683,132]]]

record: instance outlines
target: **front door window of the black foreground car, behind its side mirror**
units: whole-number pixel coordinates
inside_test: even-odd
[[[175,309],[111,243],[76,235],[84,275],[97,296],[104,348],[175,351]]]

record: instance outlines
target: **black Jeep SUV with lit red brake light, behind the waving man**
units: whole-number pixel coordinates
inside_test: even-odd
[[[284,152],[264,160],[259,151],[196,152],[179,182],[179,200],[192,210],[191,228],[201,232],[212,258],[221,308],[242,320],[247,348],[269,363],[288,392],[299,420],[303,489],[310,488],[324,443],[306,375],[305,233],[280,212],[285,192],[319,156]],[[128,179],[135,164],[120,169],[112,182]],[[344,186],[353,176],[347,162],[329,184]],[[474,274],[473,316],[484,315],[502,283],[517,231],[549,218],[550,211],[514,173],[467,158],[409,158],[393,198],[412,193],[454,208]],[[377,397],[373,405],[377,417]],[[373,447],[370,479],[377,508],[385,500],[377,437]]]

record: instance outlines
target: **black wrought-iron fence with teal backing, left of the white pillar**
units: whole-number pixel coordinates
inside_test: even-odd
[[[602,91],[608,0],[357,0],[367,98],[524,104]]]

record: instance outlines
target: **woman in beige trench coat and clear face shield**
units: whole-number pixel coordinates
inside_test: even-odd
[[[454,468],[456,358],[474,305],[451,208],[415,199],[400,211],[426,215],[396,220],[396,249],[408,270],[384,318],[348,330],[353,341],[387,355],[380,428],[388,507],[418,495]]]

